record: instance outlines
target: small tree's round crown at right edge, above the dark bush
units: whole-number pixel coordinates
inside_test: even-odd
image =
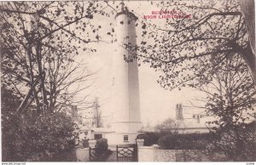
[[[218,121],[208,123],[222,128],[248,122],[256,105],[256,89],[247,65],[238,54],[215,66],[217,61],[212,58],[209,66],[214,69],[201,76],[199,81],[204,85],[195,87],[207,94],[203,100],[207,113],[218,117]]]

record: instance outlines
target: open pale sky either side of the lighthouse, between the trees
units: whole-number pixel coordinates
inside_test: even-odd
[[[127,6],[129,10],[134,10],[133,13],[139,18],[142,18],[143,14],[151,14],[153,10],[160,10],[157,6],[150,5],[147,1],[141,3],[131,2],[127,3]],[[94,18],[94,20],[100,21],[103,26],[108,26],[111,22],[114,24],[113,18],[106,19],[100,16]],[[165,20],[154,21],[155,24],[160,25],[160,21]],[[139,32],[137,31],[137,33]],[[137,41],[140,40],[139,36]],[[100,109],[103,112],[102,116],[107,119],[107,117],[111,117],[112,55],[116,45],[114,43],[91,43],[88,46],[96,48],[96,53],[79,55],[79,60],[83,60],[90,71],[97,71],[97,73],[93,77],[95,81],[93,87],[90,88],[90,91],[87,90],[86,94],[90,93],[90,98],[99,98]],[[148,65],[143,64],[139,67],[140,107],[144,124],[150,122],[154,125],[168,117],[175,118],[177,103],[189,105],[189,101],[193,101],[196,95],[201,96],[201,93],[192,88],[183,88],[181,91],[177,89],[167,91],[157,83],[159,76],[160,72],[155,72]],[[193,113],[196,114],[201,111],[203,110],[184,108],[183,113],[184,116],[192,117]]]

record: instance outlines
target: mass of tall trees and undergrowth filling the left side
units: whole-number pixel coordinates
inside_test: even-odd
[[[105,15],[102,3],[1,3],[3,160],[49,161],[73,148],[66,112],[88,87],[71,88],[91,75],[75,57],[96,51],[87,44],[101,41],[91,20]]]

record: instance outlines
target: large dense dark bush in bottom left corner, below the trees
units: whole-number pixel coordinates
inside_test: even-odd
[[[3,123],[3,161],[51,161],[54,154],[74,148],[74,130],[65,113],[38,117],[28,111],[26,117]]]

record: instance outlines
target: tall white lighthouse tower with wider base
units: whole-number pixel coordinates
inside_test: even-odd
[[[140,97],[137,59],[134,51],[125,49],[125,44],[136,45],[135,22],[137,17],[121,3],[121,11],[115,16],[117,47],[113,54],[112,84],[112,130],[106,134],[108,145],[134,144],[143,124],[140,114]],[[133,59],[126,62],[125,58]]]

